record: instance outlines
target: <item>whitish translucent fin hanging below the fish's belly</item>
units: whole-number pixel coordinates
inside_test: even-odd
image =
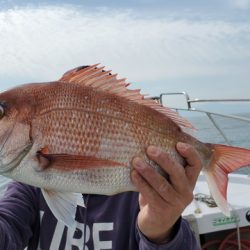
[[[45,189],[42,189],[42,194],[56,219],[67,227],[75,228],[77,205],[85,207],[82,194],[53,192]]]

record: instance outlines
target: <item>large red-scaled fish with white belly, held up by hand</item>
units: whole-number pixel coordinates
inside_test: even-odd
[[[41,188],[55,217],[71,227],[76,207],[85,206],[82,194],[137,191],[132,159],[164,175],[147,147],[184,164],[176,151],[183,142],[197,150],[212,196],[230,215],[228,174],[250,164],[250,150],[197,140],[189,121],[128,86],[94,64],[0,93],[0,174]]]

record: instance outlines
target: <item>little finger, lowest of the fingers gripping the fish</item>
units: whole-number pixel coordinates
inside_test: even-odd
[[[148,203],[155,207],[164,207],[163,199],[136,170],[132,170],[131,179],[139,193],[143,196],[144,204]]]

